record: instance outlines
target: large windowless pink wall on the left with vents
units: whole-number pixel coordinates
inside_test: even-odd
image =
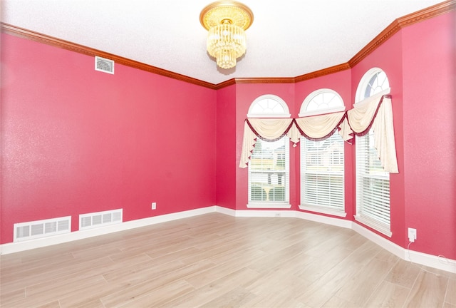
[[[1,243],[15,222],[215,204],[217,91],[7,34],[1,66]]]

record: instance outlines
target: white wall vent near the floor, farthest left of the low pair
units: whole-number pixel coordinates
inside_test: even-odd
[[[14,224],[14,242],[71,232],[71,216]]]

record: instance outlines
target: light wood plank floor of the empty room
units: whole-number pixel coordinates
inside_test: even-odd
[[[218,213],[1,256],[1,307],[456,307],[353,230]]]

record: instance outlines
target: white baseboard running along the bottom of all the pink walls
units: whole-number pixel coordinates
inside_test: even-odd
[[[393,242],[381,237],[380,235],[372,232],[371,230],[358,225],[356,222],[350,220],[343,220],[336,217],[327,217],[317,215],[309,212],[302,212],[296,210],[232,210],[227,207],[220,207],[217,205],[202,207],[195,210],[187,210],[183,212],[175,212],[172,214],[142,218],[140,220],[131,220],[122,222],[117,225],[109,225],[97,229],[75,231],[63,235],[55,235],[52,237],[44,237],[36,240],[29,240],[24,242],[11,242],[0,245],[0,255],[6,255],[13,252],[21,252],[24,250],[31,250],[33,248],[46,247],[50,245],[61,244],[64,242],[71,242],[73,240],[82,240],[88,237],[97,235],[105,235],[112,232],[130,230],[137,227],[145,227],[148,225],[155,225],[161,222],[169,222],[172,220],[180,220],[182,218],[193,217],[197,215],[204,215],[209,212],[219,212],[224,215],[233,217],[296,217],[304,220],[311,220],[314,222],[321,222],[326,225],[335,225],[337,227],[344,227],[358,232],[368,240],[375,242],[393,255],[400,257],[403,260],[414,262],[418,265],[425,265],[428,267],[445,270],[447,272],[456,273],[456,260],[445,259],[440,256],[428,255],[423,252],[415,252],[407,250]],[[413,248],[413,247],[412,247]]]

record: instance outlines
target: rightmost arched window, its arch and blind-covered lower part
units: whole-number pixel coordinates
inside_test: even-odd
[[[389,88],[380,68],[368,71],[356,91],[357,103]],[[390,232],[390,174],[383,170],[373,146],[373,131],[356,136],[356,220],[385,235]]]

